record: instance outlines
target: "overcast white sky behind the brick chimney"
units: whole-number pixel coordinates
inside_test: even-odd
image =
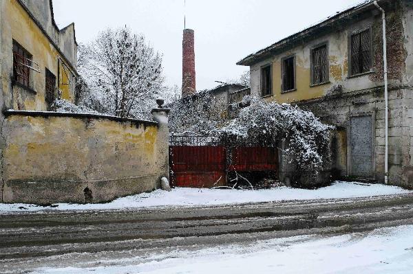
[[[235,62],[361,0],[186,0],[195,30],[197,89],[237,78]],[[76,39],[91,41],[106,27],[127,25],[163,56],[167,84],[182,84],[184,0],[53,0],[59,27],[74,22]]]

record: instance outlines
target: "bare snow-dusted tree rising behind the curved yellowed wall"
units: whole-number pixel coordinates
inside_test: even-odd
[[[145,37],[127,27],[107,29],[79,52],[79,72],[104,112],[147,117],[164,80],[162,58]]]

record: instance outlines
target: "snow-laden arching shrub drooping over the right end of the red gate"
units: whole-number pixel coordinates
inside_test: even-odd
[[[297,172],[323,169],[330,161],[330,131],[313,113],[298,106],[266,102],[246,96],[240,115],[222,128],[211,130],[223,143],[260,144],[280,148],[284,142],[285,155]]]

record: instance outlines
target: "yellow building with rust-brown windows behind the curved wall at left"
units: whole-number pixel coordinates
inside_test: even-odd
[[[75,99],[74,24],[59,30],[51,0],[2,0],[3,110],[46,111],[60,97]]]

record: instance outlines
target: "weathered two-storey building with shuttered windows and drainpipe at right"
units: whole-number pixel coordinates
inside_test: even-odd
[[[383,15],[387,23],[388,183],[413,187],[412,0],[362,3],[237,65],[250,67],[252,95],[297,104],[336,126],[332,155],[341,176],[384,182]]]

